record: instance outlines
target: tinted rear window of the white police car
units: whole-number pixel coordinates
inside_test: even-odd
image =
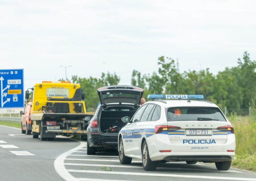
[[[226,121],[217,107],[170,107],[168,121]]]

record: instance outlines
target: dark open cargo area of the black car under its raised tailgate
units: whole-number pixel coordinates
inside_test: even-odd
[[[99,115],[100,132],[103,134],[118,134],[119,131],[126,125],[121,118],[130,116],[137,111],[134,105],[111,105],[102,109]]]

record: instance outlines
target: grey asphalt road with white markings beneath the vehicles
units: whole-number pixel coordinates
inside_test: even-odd
[[[111,170],[111,171],[106,171]],[[57,137],[40,141],[20,129],[0,126],[1,180],[80,180],[80,181],[166,181],[166,180],[247,180],[256,173],[231,168],[218,171],[212,163],[161,163],[156,171],[144,171],[141,160],[121,165],[117,152],[86,155],[86,142]]]

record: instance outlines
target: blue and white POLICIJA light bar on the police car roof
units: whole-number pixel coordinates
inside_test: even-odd
[[[204,99],[203,95],[155,95],[149,94],[148,99]]]

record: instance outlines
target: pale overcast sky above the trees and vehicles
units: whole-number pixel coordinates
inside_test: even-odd
[[[180,72],[256,59],[256,1],[1,0],[0,69],[24,69],[24,88],[67,76],[132,70],[151,74],[157,57]]]

